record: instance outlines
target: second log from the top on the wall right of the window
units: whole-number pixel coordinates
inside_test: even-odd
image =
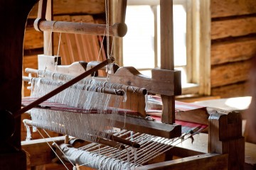
[[[211,22],[211,38],[237,37],[256,33],[256,16]]]

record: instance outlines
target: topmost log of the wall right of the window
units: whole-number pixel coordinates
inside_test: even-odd
[[[212,18],[256,13],[255,0],[211,0]]]

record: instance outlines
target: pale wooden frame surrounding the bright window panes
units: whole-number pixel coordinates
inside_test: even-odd
[[[174,0],[174,4],[186,4],[187,34],[186,74],[188,84],[183,84],[182,94],[210,95],[210,0]],[[128,0],[128,5],[150,5],[155,16],[155,35],[157,33],[156,6],[159,0]],[[117,1],[112,0],[112,23],[116,13]],[[157,36],[154,44],[157,45]],[[157,49],[157,47],[155,47]],[[122,38],[114,38],[114,56],[122,66]],[[155,63],[157,64],[157,50]]]

